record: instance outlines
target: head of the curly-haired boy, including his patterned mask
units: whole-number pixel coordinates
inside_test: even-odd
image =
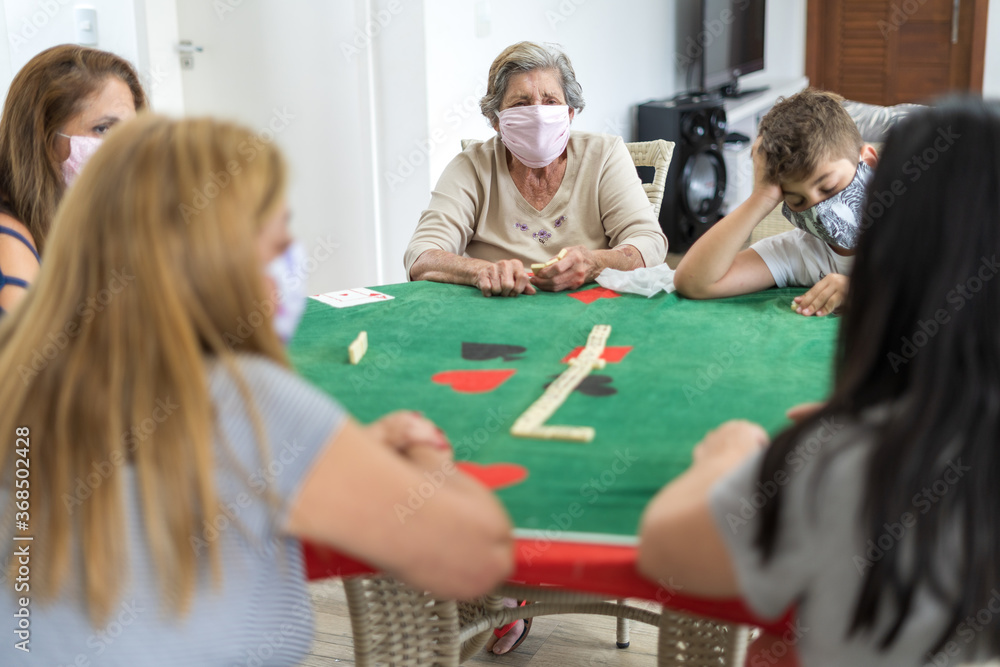
[[[779,101],[764,116],[754,146],[755,190],[759,184],[776,185],[789,222],[834,252],[851,255],[878,156],[842,102],[839,95],[810,88]]]

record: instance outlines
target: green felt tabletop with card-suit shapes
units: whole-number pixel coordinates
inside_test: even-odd
[[[634,541],[643,508],[689,465],[708,430],[741,418],[773,434],[787,425],[787,408],[829,389],[837,321],[794,313],[800,289],[715,301],[613,297],[596,286],[575,297],[513,299],[427,282],[375,289],[395,298],[342,309],[310,300],[290,347],[295,368],[363,422],[420,410],[447,433],[456,459],[523,466],[527,478],[497,492],[522,537]],[[584,302],[598,294],[604,298]],[[609,347],[632,348],[592,373],[610,378],[592,380],[599,393],[614,393],[574,392],[548,422],[592,426],[594,440],[511,436],[513,421],[596,324],[611,325]],[[368,353],[352,366],[347,346],[360,331],[368,332]],[[509,360],[466,359],[463,343],[525,350]],[[432,380],[462,370],[514,373],[481,393]]]

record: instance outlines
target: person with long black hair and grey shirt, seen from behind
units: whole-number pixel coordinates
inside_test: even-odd
[[[639,568],[795,607],[805,665],[997,656],[1000,107],[901,122],[865,212],[829,400],[770,445],[709,433],[647,508]]]

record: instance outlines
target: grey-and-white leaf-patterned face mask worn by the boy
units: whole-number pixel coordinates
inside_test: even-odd
[[[861,233],[865,190],[874,173],[867,164],[859,162],[854,179],[846,188],[804,211],[793,211],[788,204],[782,204],[781,214],[819,240],[853,250]]]

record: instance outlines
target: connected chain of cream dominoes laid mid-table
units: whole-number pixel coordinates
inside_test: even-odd
[[[611,326],[598,324],[587,337],[587,346],[575,359],[570,359],[569,368],[548,386],[545,393],[531,404],[510,427],[510,434],[519,438],[539,438],[542,440],[571,440],[590,442],[594,439],[594,429],[589,426],[545,426],[559,406],[569,398],[573,390],[590,375],[595,368],[604,368],[601,359],[604,345],[611,335]]]

